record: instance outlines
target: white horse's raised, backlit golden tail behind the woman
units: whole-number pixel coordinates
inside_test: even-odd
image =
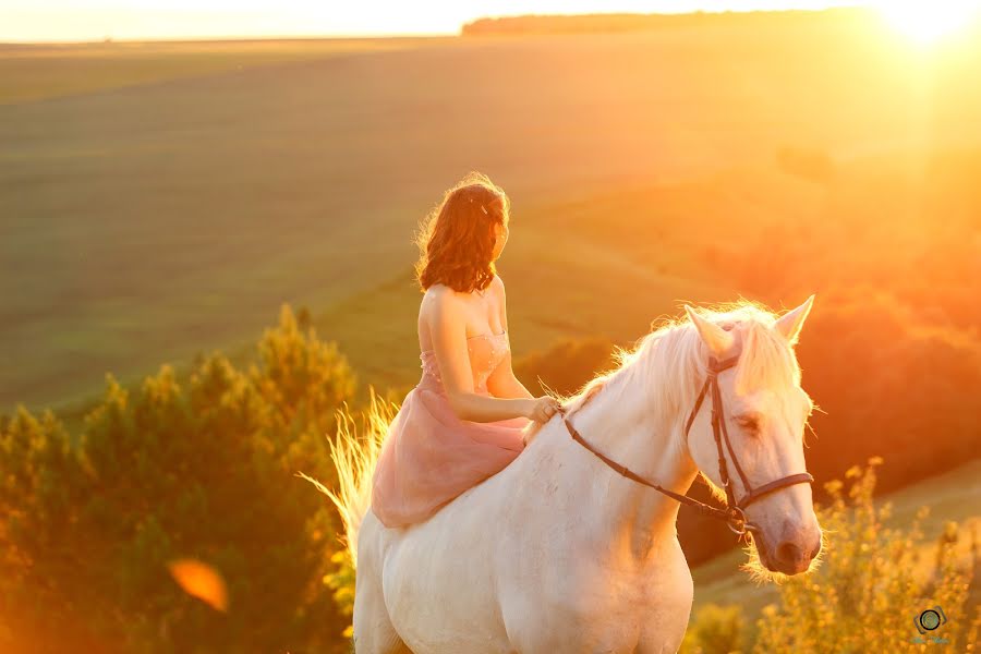
[[[388,434],[388,426],[398,411],[395,403],[379,398],[374,388],[370,388],[370,391],[371,403],[367,412],[362,413],[362,436],[358,435],[347,403],[342,410],[337,411],[337,438],[330,441],[330,459],[337,469],[337,491],[327,488],[302,472],[298,473],[329,497],[337,507],[344,525],[343,541],[354,567],[358,566],[358,532],[372,504],[375,465]]]

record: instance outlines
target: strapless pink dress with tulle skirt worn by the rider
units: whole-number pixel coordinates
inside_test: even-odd
[[[474,392],[508,351],[508,332],[468,339]],[[385,526],[421,522],[510,463],[524,448],[525,417],[460,420],[449,404],[432,350],[420,354],[422,378],[388,427],[372,483],[372,510]]]

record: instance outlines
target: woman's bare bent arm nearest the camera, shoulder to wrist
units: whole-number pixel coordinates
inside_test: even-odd
[[[436,363],[450,407],[460,420],[495,422],[531,417],[536,401],[525,397],[486,397],[473,391],[473,372],[467,350],[467,320],[450,292],[431,295],[429,334]]]

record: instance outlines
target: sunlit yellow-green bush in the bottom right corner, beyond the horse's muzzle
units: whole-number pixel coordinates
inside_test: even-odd
[[[974,642],[981,615],[972,625],[967,597],[977,561],[957,560],[950,547],[956,528],[948,528],[932,572],[923,569],[919,525],[928,509],[906,530],[884,526],[892,506],[876,509],[872,501],[880,463],[873,458],[848,471],[847,499],[840,481],[825,484],[832,501],[818,510],[827,534],[820,569],[783,584],[779,605],[764,608],[756,623],[754,652],[916,652],[933,633],[949,641],[949,652]],[[913,619],[935,605],[949,621],[921,635]]]

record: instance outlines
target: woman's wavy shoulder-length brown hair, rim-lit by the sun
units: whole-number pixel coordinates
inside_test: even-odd
[[[463,293],[486,289],[496,272],[491,261],[494,225],[506,223],[510,207],[504,190],[480,172],[448,190],[415,237],[415,276],[422,291],[435,283]]]

